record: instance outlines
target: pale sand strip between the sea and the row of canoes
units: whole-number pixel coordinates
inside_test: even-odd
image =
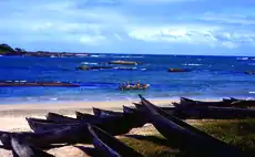
[[[175,102],[176,100],[150,101],[160,106],[169,106],[171,102]],[[65,102],[50,104],[33,103],[18,105],[2,104],[0,105],[0,130],[29,132],[31,129],[26,121],[26,117],[45,118],[45,115],[49,112],[59,113],[70,117],[75,117],[75,111],[82,113],[92,113],[92,107],[122,112],[123,105],[134,106],[132,105],[132,102],[139,102],[139,100],[112,102]]]

